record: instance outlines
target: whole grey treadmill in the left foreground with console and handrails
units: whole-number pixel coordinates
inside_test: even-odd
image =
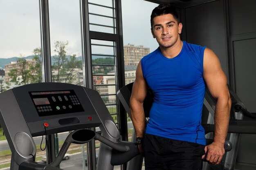
[[[120,133],[99,93],[66,83],[23,85],[0,94],[0,124],[10,146],[11,170],[61,170],[71,143],[101,141],[98,170],[113,170],[139,155],[135,142],[119,141]],[[85,128],[99,127],[101,135]],[[75,131],[73,131],[75,130]],[[32,137],[73,131],[49,165],[36,162]]]

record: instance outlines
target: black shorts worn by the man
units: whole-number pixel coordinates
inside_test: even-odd
[[[204,145],[145,134],[145,170],[202,170]]]

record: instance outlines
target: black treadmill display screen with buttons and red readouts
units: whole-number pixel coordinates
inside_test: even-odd
[[[39,116],[83,112],[74,90],[29,92]]]

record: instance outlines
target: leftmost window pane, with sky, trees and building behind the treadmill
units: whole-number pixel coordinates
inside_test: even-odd
[[[0,93],[42,82],[38,1],[1,0],[0,11]],[[0,139],[6,139],[1,126]],[[0,169],[10,166],[7,148],[7,142],[0,144]]]

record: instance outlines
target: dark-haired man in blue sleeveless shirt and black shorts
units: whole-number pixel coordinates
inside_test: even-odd
[[[209,48],[180,40],[182,23],[170,4],[156,7],[150,21],[159,48],[139,62],[130,98],[145,168],[201,170],[205,156],[209,163],[219,164],[225,153],[231,107],[220,61]],[[208,146],[201,126],[205,86],[217,101],[214,141]],[[146,125],[143,101],[148,88],[154,102]]]

